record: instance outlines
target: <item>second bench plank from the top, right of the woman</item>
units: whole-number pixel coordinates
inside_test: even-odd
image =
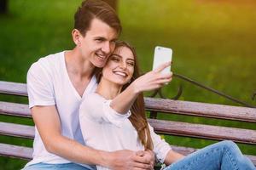
[[[148,119],[148,122],[152,127],[154,127],[156,133],[188,136],[201,139],[230,139],[243,144],[256,144],[255,130],[155,119]]]

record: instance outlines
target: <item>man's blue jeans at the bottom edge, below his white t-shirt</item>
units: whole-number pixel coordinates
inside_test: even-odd
[[[37,163],[27,167],[24,167],[22,170],[91,170],[94,168],[83,167],[76,163],[61,163],[61,164],[49,164],[49,163]],[[96,168],[95,168],[96,169]]]

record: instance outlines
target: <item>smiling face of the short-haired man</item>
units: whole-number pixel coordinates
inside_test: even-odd
[[[85,36],[79,37],[79,49],[84,59],[96,67],[103,67],[113,53],[117,38],[117,31],[112,27],[102,20],[93,19]]]

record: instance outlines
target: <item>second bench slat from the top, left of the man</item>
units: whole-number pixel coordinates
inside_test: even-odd
[[[0,101],[0,114],[32,117],[28,105]]]

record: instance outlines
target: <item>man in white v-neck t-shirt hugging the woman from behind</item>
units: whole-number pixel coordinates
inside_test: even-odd
[[[29,107],[36,131],[33,159],[24,169],[94,168],[89,165],[152,169],[154,154],[150,151],[105,152],[84,145],[79,127],[79,105],[86,94],[96,89],[95,68],[105,65],[121,26],[113,8],[95,0],[84,1],[74,20],[75,48],[39,59],[27,73]],[[143,79],[133,87],[139,86],[145,86]],[[131,92],[132,89],[135,88],[131,88]],[[129,91],[125,95],[133,96],[131,102],[137,96]]]

